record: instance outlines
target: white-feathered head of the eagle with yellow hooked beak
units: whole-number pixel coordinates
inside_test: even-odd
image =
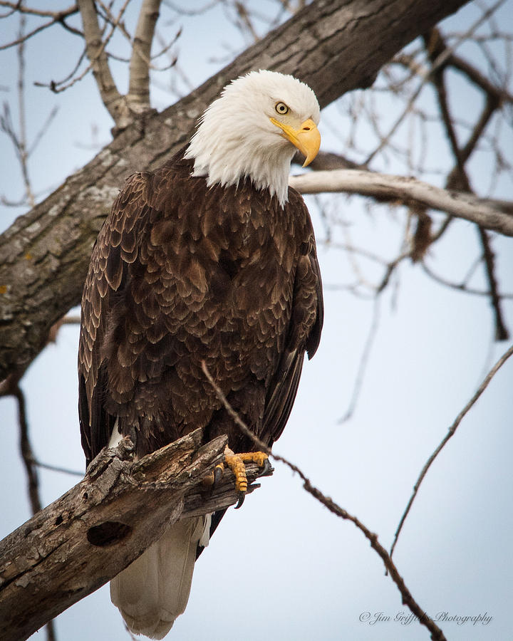
[[[185,157],[194,158],[192,175],[207,177],[207,184],[237,185],[249,177],[283,206],[296,148],[306,156],[304,167],[317,155],[319,118],[308,85],[276,71],[252,71],[207,108]]]

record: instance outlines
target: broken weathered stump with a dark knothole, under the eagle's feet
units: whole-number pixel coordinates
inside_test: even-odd
[[[203,480],[226,443],[202,447],[197,430],[137,462],[128,439],[100,452],[83,481],[0,542],[0,641],[26,639],[100,588],[170,523],[235,504],[231,472],[213,490]]]

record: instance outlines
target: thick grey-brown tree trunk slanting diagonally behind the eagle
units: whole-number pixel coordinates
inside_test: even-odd
[[[292,73],[325,107],[371,85],[395,53],[466,1],[314,1],[186,98],[118,135],[0,237],[0,380],[28,367],[51,325],[80,301],[93,242],[124,179],[184,145],[229,80],[259,68]]]

